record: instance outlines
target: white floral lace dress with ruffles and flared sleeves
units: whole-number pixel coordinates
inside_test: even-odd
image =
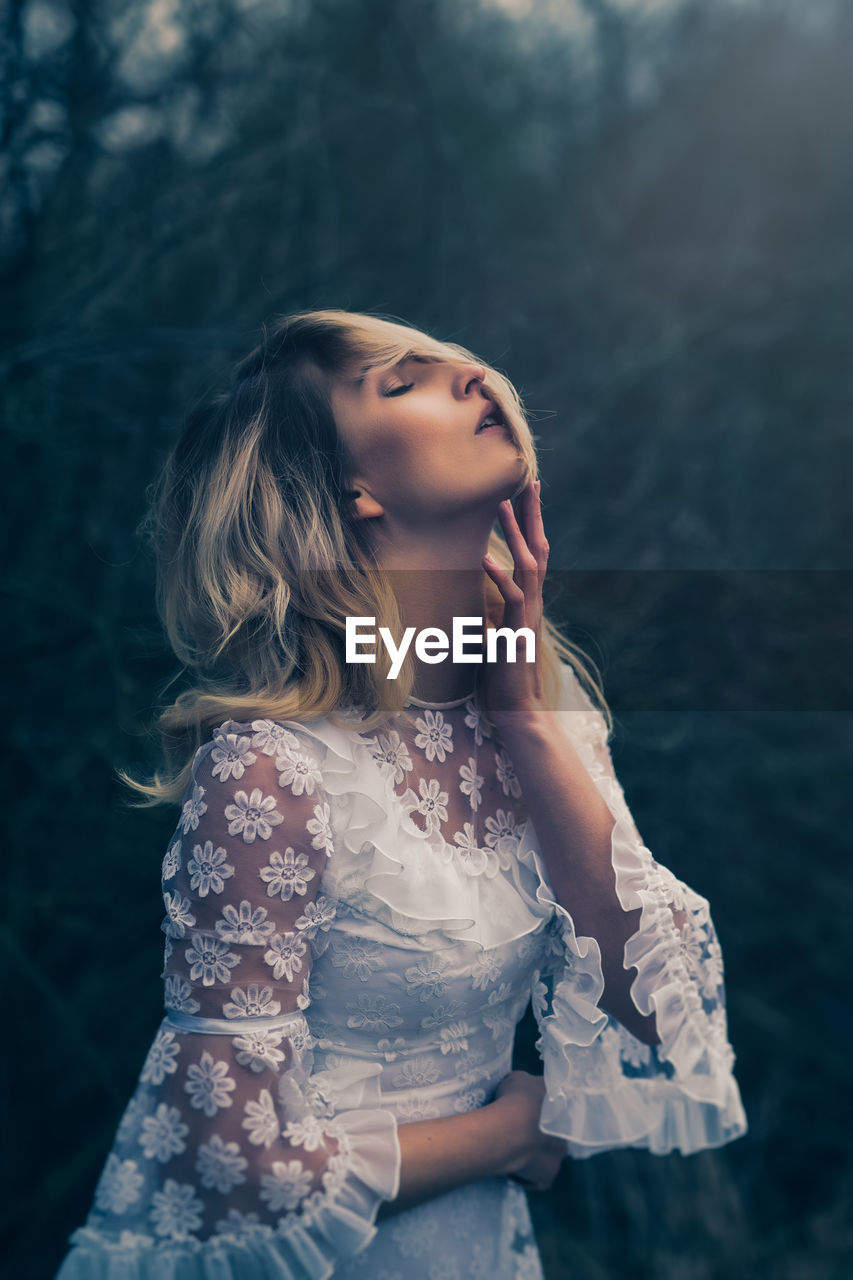
[[[60,1280],[539,1277],[507,1178],[375,1221],[398,1125],[487,1105],[530,998],[540,1124],[570,1157],[745,1133],[708,904],[643,846],[571,669],[557,714],[642,908],[625,964],[654,1048],[598,1007],[598,943],[474,703],[410,713],[228,721],[199,750],[163,861],[165,1018]]]

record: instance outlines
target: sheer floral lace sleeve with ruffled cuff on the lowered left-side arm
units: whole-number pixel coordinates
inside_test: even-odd
[[[63,1280],[95,1274],[86,1247],[101,1228],[133,1245],[122,1276],[140,1277],[231,1274],[224,1261],[240,1274],[257,1254],[264,1274],[319,1280],[375,1234],[398,1188],[396,1121],[324,1096],[305,1016],[336,914],[320,888],[333,856],[307,736],[224,724],[163,865],[167,1018]]]

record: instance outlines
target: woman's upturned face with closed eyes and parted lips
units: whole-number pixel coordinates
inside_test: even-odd
[[[409,356],[337,379],[332,408],[353,460],[353,488],[411,527],[514,497],[526,463],[508,426],[478,431],[492,404],[484,378],[470,361]]]

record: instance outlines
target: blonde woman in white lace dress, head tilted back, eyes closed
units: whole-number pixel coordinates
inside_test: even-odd
[[[165,1018],[61,1280],[534,1277],[523,1188],[566,1156],[745,1133],[708,904],[543,617],[535,470],[494,369],[346,311],[191,412],[147,521],[191,682],[165,772],[126,776],[181,805]],[[526,627],[535,660],[428,631],[391,678],[353,618]],[[543,1076],[511,1070],[530,1000]]]

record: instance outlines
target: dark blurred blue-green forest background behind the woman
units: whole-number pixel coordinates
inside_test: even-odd
[[[547,1276],[849,1276],[853,5],[1,14],[6,1274],[53,1275],[160,1016],[175,814],[113,772],[179,673],[145,486],[264,319],[333,306],[519,388],[552,614],[722,943],[749,1133],[567,1161]]]

